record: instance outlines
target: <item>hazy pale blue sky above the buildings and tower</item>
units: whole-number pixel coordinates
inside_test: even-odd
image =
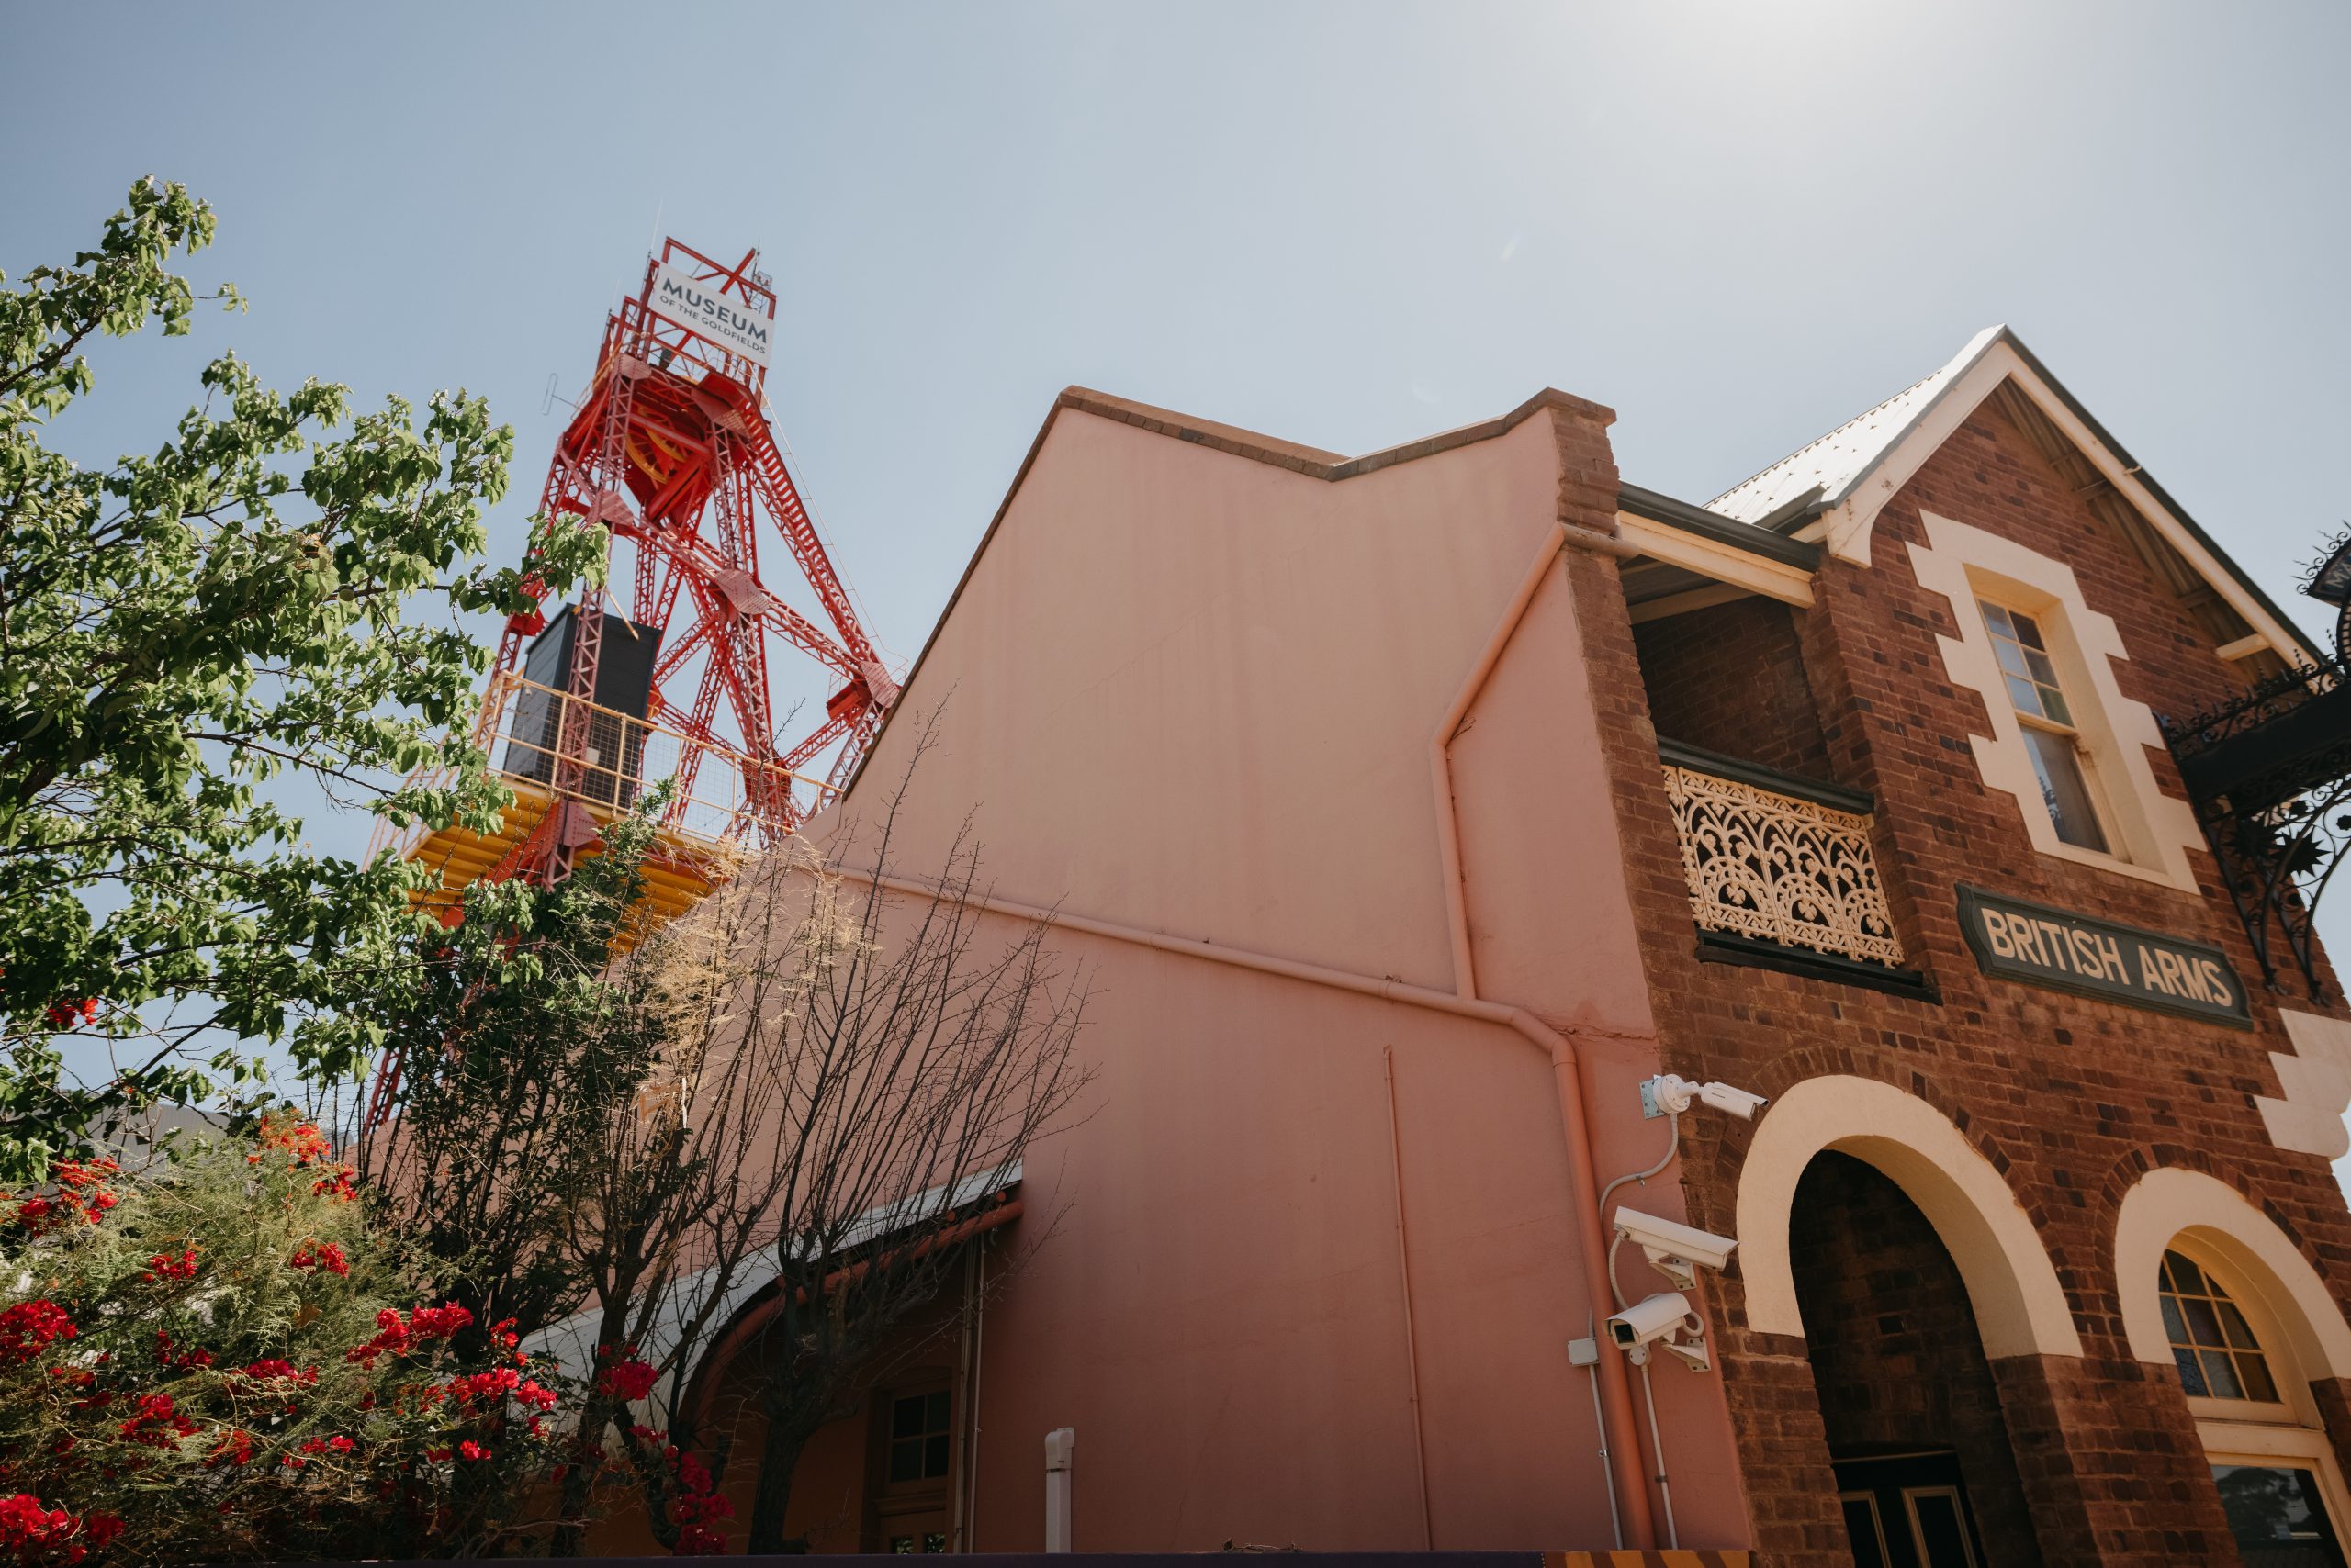
[[[150,444],[233,346],[487,393],[515,552],[656,233],[759,244],[769,378],[870,630],[929,632],[1086,383],[1364,451],[1540,386],[1704,501],[2010,322],[2304,623],[2351,512],[2342,5],[5,9],[0,268],[141,174],[252,310],[113,346]],[[364,827],[315,820],[315,837]],[[2344,912],[2337,933],[2351,936]]]

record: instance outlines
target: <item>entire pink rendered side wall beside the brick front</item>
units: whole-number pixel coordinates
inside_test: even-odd
[[[936,712],[903,875],[971,813],[999,898],[1453,990],[1429,736],[1556,512],[1547,411],[1345,482],[1063,411],[839,816],[870,823]],[[1547,583],[1453,745],[1455,802],[1481,994],[1589,1032],[1606,1178],[1662,1131],[1632,1112],[1653,1023],[1578,649]],[[1093,973],[1098,1081],[1006,1237],[1053,1225],[987,1314],[976,1544],[1041,1544],[1060,1425],[1079,1549],[1422,1544],[1385,1046],[1434,1544],[1608,1544],[1547,1058],[1488,1023],[1056,945]],[[1669,1187],[1641,1206],[1681,1215]],[[1674,1368],[1660,1410],[1683,1544],[1742,1544],[1719,1385]]]

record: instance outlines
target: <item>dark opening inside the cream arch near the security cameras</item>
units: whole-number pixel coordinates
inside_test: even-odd
[[[2036,1568],[1968,1286],[1890,1178],[1820,1154],[1789,1262],[1857,1568]]]

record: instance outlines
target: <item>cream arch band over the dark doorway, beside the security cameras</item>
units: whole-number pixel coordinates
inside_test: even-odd
[[[1841,1056],[1862,1065],[1850,1053]],[[1794,1060],[1782,1063],[1796,1067]],[[1968,1135],[1963,1114],[1918,1093],[1933,1088],[1923,1074],[1900,1074],[1916,1079],[1916,1088],[1890,1077],[1815,1072],[1775,1095],[1759,1119],[1737,1161],[1735,1234],[1747,1326],[1803,1335],[1789,1218],[1806,1166],[1815,1154],[1836,1150],[1876,1166],[1925,1213],[1968,1284],[1987,1356],[2081,1356],[2071,1302],[2038,1227],[2008,1187],[2005,1161],[1987,1157],[1984,1140]]]

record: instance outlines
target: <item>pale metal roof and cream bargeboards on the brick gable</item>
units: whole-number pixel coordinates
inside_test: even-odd
[[[1806,489],[1820,487],[1815,501],[1820,515],[1801,527],[1796,538],[1817,538],[1829,555],[1867,567],[1878,508],[2003,381],[2015,381],[2116,494],[2146,517],[2276,654],[2290,663],[2318,658],[2311,637],[2189,517],[2186,508],[2156,484],[2154,475],[2005,322],[1984,327],[1942,369],[1730,487],[1704,510],[1763,524],[1801,510],[1791,503]],[[1961,393],[1965,395],[1958,397]],[[1881,482],[1869,484],[1874,477]]]

